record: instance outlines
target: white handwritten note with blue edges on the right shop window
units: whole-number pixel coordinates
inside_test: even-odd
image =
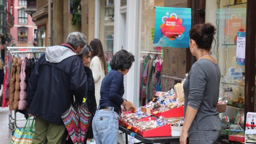
[[[237,34],[236,63],[245,65],[245,32],[238,32]]]

